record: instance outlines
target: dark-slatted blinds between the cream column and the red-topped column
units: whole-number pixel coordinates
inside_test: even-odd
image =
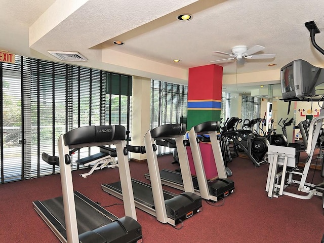
[[[151,129],[170,123],[186,123],[188,87],[151,79]],[[157,154],[170,153],[158,146]]]

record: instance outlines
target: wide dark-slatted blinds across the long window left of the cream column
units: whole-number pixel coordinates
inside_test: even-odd
[[[130,129],[132,77],[113,74],[112,87],[127,79],[128,93],[121,95],[107,92],[109,76],[103,70],[20,56],[15,64],[0,63],[1,183],[57,173],[59,168],[45,163],[42,153],[58,155],[59,136],[74,128],[121,124]],[[113,121],[111,113],[117,117]],[[96,151],[80,149],[72,161]]]

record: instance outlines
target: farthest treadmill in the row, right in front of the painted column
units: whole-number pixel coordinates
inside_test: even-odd
[[[216,202],[220,198],[224,198],[234,192],[234,182],[227,178],[220,144],[217,140],[217,131],[219,131],[219,129],[219,121],[206,121],[205,123],[192,127],[188,134],[194,168],[196,171],[196,177],[192,177],[195,192],[202,198],[213,202]],[[212,182],[209,182],[206,178],[203,158],[201,157],[199,147],[198,134],[209,135],[209,140],[212,145],[218,173],[218,178]],[[186,158],[180,157],[179,155],[179,160],[185,160]],[[150,180],[150,174],[145,174],[145,177]],[[180,172],[164,169],[160,171],[160,177],[162,184],[179,190],[184,190],[182,174]]]

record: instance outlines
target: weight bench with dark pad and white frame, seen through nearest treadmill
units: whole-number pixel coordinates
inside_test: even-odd
[[[104,146],[100,147],[99,153],[76,160],[76,163],[78,165],[83,165],[83,166],[90,166],[95,163],[89,172],[79,174],[79,175],[82,176],[83,178],[87,178],[87,176],[90,176],[96,170],[102,170],[103,168],[117,167],[118,165],[113,158],[116,156],[117,153],[114,149],[104,147]]]

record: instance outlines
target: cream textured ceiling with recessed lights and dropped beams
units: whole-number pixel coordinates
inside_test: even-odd
[[[304,25],[315,21],[321,31],[316,42],[324,47],[324,1],[0,0],[0,8],[0,49],[55,61],[47,51],[78,51],[88,58],[78,65],[168,82],[186,84],[188,68],[227,58],[213,51],[231,53],[238,45],[261,45],[265,50],[257,54],[276,57],[217,64],[235,79],[235,87],[278,83],[280,67],[296,59],[324,64]],[[183,13],[193,18],[177,20]],[[113,45],[115,40],[125,45]],[[265,77],[259,78],[260,72]],[[258,75],[241,84],[239,74],[245,73]]]

